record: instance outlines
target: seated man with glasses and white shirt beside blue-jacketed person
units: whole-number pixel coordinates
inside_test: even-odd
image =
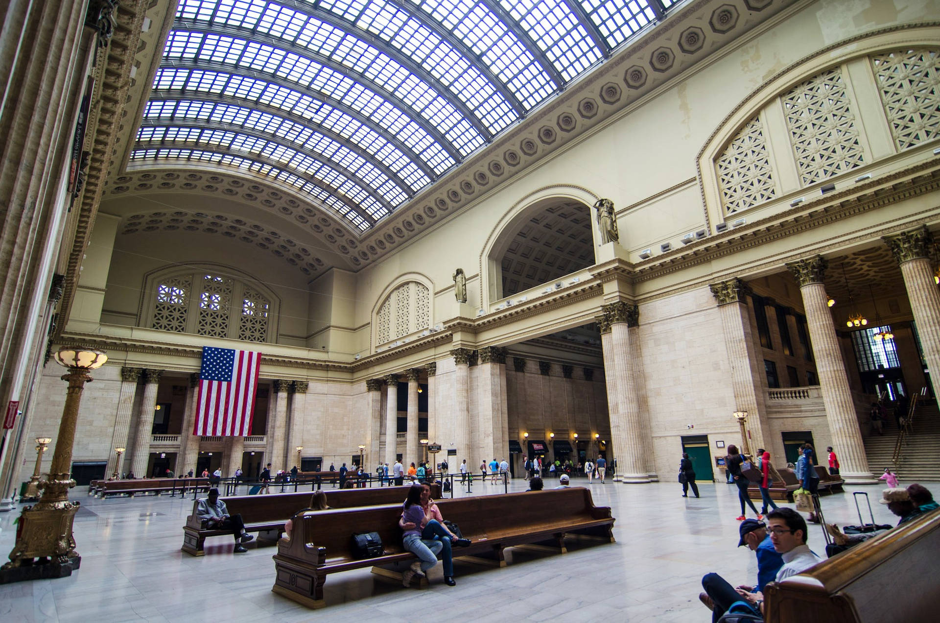
[[[775,582],[782,582],[791,575],[802,573],[822,562],[822,558],[809,550],[807,520],[803,519],[802,515],[790,507],[783,507],[768,513],[767,522],[771,543],[783,558],[783,567],[776,572]],[[735,601],[744,601],[754,614],[763,615],[762,591],[751,592],[744,588],[732,588],[729,583],[714,574],[702,578],[703,586],[706,580],[711,583],[709,595],[712,596],[716,608],[718,604],[727,604],[726,607],[730,607]]]

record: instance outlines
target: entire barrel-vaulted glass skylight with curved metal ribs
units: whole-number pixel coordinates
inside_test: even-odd
[[[274,178],[359,232],[670,0],[180,0],[131,155]]]

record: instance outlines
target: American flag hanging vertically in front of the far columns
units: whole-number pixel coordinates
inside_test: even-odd
[[[251,434],[261,354],[202,347],[194,435]]]

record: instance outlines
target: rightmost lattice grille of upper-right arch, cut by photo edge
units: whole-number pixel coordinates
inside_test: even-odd
[[[940,136],[940,50],[874,55],[871,65],[898,151]]]

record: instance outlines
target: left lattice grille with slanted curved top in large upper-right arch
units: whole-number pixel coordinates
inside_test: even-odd
[[[716,162],[725,214],[746,210],[776,195],[760,118],[747,122]]]

